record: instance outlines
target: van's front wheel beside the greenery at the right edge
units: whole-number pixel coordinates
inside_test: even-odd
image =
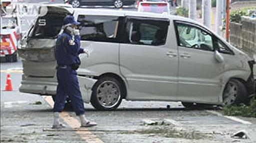
[[[230,93],[230,90],[235,92],[228,94]],[[248,98],[244,84],[237,79],[231,79],[227,82],[222,97],[223,105],[238,105],[240,103],[244,103]]]

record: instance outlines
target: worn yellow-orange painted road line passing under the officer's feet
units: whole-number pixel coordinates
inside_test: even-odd
[[[54,102],[50,96],[46,96],[44,100],[53,108]],[[61,112],[60,117],[65,121],[66,124],[68,124],[68,126],[70,126],[72,129],[76,129],[77,131],[75,133],[78,134],[87,143],[104,143],[97,136],[92,134],[88,129],[79,128],[79,121],[70,116],[67,112]]]

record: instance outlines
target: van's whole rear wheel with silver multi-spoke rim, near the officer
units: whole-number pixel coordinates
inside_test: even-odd
[[[93,86],[90,102],[97,110],[114,110],[120,105],[123,93],[118,80],[105,76],[100,78]]]

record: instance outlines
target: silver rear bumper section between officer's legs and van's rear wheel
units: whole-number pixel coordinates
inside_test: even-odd
[[[93,78],[88,78],[85,76],[78,75],[78,82],[80,87],[80,92],[82,95],[83,102],[89,103],[92,93],[92,87],[97,80]]]

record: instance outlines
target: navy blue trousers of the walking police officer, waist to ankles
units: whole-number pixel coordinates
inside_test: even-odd
[[[57,68],[57,94],[55,97],[53,112],[62,112],[66,102],[66,96],[71,100],[75,114],[84,114],[83,101],[79,89],[77,73],[70,66]]]

